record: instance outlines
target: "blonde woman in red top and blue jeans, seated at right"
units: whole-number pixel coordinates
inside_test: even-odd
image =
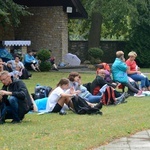
[[[143,91],[148,90],[150,91],[150,83],[148,78],[143,75],[136,64],[136,57],[137,54],[134,51],[129,52],[128,54],[129,58],[126,60],[126,64],[128,66],[128,76],[131,77],[134,81],[140,81],[141,82],[141,89]]]

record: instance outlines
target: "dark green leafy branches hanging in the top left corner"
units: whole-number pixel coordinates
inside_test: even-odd
[[[20,17],[25,15],[31,15],[27,11],[26,6],[21,6],[13,2],[13,0],[0,0],[0,25],[5,27],[6,25],[18,26],[20,23]]]

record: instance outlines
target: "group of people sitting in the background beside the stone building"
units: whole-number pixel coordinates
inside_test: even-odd
[[[55,64],[55,57],[51,57],[49,60],[52,67],[58,71],[57,65]],[[13,60],[3,62],[0,58],[0,72],[7,70],[12,76],[19,79],[29,79],[31,77],[30,70],[40,72],[39,60],[36,59],[36,52],[29,50],[27,54],[24,55],[23,60],[19,55],[15,55]]]

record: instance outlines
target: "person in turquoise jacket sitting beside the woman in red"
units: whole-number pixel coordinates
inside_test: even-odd
[[[135,88],[129,81],[127,75],[128,66],[125,63],[124,52],[117,51],[116,52],[116,59],[112,64],[112,76],[115,82],[119,82],[122,85],[128,87],[130,91],[136,93],[137,95],[141,95],[142,91]],[[133,81],[134,82],[134,81]]]

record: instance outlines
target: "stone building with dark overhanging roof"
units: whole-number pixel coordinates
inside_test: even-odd
[[[68,19],[87,18],[80,0],[14,0],[26,5],[33,14],[21,18],[21,24],[0,40],[30,40],[30,49],[50,49],[56,62],[68,53]],[[8,35],[8,34],[7,34]]]

